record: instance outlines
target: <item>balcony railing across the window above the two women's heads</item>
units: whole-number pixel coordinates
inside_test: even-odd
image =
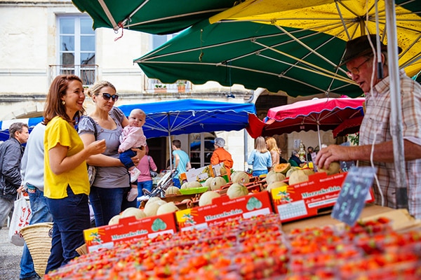
[[[50,84],[55,76],[74,74],[81,78],[83,85],[93,85],[98,80],[98,65],[96,64],[62,64],[48,65],[48,80]]]

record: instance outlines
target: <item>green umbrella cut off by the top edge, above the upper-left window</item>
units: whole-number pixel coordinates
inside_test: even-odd
[[[150,34],[172,34],[222,10],[235,0],[72,0],[93,19],[93,28],[120,28]]]

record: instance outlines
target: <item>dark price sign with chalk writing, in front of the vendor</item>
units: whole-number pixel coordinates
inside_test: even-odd
[[[352,167],[342,184],[338,200],[332,211],[332,218],[354,225],[366,204],[368,191],[373,184],[375,168]]]

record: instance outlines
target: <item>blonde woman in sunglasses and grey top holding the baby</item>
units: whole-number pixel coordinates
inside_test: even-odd
[[[119,160],[119,137],[123,127],[128,125],[128,119],[123,112],[114,106],[119,99],[112,83],[102,80],[88,90],[88,95],[95,104],[95,110],[89,114],[95,121],[96,139],[105,139],[105,153],[88,158],[88,165],[97,167],[95,181],[91,187],[89,199],[95,215],[95,225],[107,225],[109,220],[128,207],[136,207],[136,201],[127,200],[131,190],[130,177],[126,167]],[[79,134],[85,146],[95,141],[95,128],[88,118],[82,118],[79,123]],[[133,149],[137,153],[132,158],[138,165],[145,150]]]

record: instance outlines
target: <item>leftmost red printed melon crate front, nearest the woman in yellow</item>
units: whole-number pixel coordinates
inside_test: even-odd
[[[112,248],[119,241],[131,241],[144,237],[153,238],[177,231],[173,213],[136,219],[134,216],[121,218],[119,224],[104,225],[83,230],[89,252],[100,248]]]

